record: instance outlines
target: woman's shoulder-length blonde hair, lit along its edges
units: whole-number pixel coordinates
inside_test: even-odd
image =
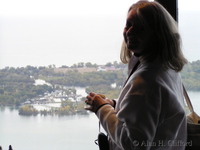
[[[177,23],[167,10],[157,2],[139,1],[133,4],[134,9],[145,28],[152,30],[155,39],[152,47],[147,47],[140,56],[144,62],[151,62],[159,57],[164,68],[181,71],[187,60],[181,51],[181,37]],[[150,50],[149,50],[150,49]],[[133,53],[127,50],[125,42],[122,44],[120,59],[128,63]]]

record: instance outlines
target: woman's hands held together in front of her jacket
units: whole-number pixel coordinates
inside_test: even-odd
[[[91,92],[86,98],[87,100],[85,100],[85,103],[87,105],[90,105],[90,107],[87,107],[85,109],[95,113],[103,105],[110,104],[111,106],[114,106],[112,100],[105,98],[105,96],[101,94],[96,94]]]

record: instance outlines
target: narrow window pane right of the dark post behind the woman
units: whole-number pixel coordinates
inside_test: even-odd
[[[189,61],[182,71],[182,78],[193,107],[200,114],[200,9],[198,7],[200,2],[198,0],[178,2],[183,53]]]

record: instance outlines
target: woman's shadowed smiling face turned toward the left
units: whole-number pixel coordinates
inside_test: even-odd
[[[152,34],[142,25],[135,10],[131,9],[127,16],[123,35],[127,49],[139,54],[147,47]]]

